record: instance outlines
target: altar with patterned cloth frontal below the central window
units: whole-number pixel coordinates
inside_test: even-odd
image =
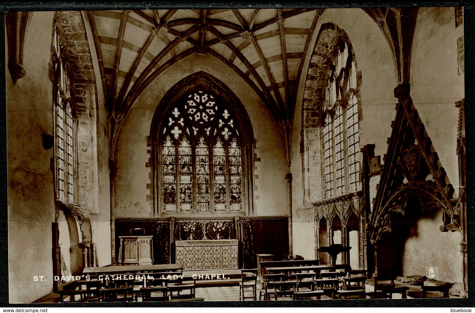
[[[238,267],[237,239],[175,241],[176,263],[183,269],[234,269]]]

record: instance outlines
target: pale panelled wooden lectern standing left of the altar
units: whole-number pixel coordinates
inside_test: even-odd
[[[152,265],[153,236],[119,236],[120,265]]]

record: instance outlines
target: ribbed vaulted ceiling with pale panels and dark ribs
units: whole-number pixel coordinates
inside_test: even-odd
[[[166,68],[209,54],[257,92],[277,121],[294,112],[303,58],[323,9],[88,11],[110,116],[120,119]],[[305,75],[305,73],[304,73]]]

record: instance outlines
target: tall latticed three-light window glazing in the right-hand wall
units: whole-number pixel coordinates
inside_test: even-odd
[[[347,43],[338,47],[329,67],[323,119],[327,198],[360,189],[356,65]]]

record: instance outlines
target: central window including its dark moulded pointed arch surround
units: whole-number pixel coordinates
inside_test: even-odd
[[[199,72],[173,86],[155,110],[148,143],[154,216],[253,214],[252,125],[218,79]]]

